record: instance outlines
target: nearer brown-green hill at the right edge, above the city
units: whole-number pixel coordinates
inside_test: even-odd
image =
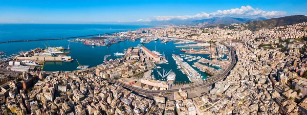
[[[262,28],[273,28],[279,26],[293,25],[293,24],[298,24],[300,22],[307,22],[307,16],[292,15],[292,16],[285,16],[279,18],[271,18],[268,20],[250,21],[247,22],[246,24],[248,24],[248,29],[258,30]]]

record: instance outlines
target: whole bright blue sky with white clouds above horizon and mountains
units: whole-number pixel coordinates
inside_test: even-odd
[[[307,15],[307,1],[0,0],[1,23],[91,24],[108,21],[199,20],[212,17]]]

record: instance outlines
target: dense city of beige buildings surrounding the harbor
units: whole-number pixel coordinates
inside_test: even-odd
[[[45,72],[19,65],[23,58],[16,56],[1,64],[0,114],[307,113],[307,22],[257,31],[248,30],[246,24],[223,28],[166,26],[117,35],[129,40],[147,37],[144,42],[156,37],[166,39],[163,42],[181,39],[207,48],[214,46],[213,51],[215,46],[224,46],[231,56],[228,61],[200,59],[196,62],[197,67],[203,67],[200,63],[204,61],[222,66],[223,71],[213,69],[212,76],[206,80],[200,79],[198,72],[180,56],[173,56],[179,68],[186,67],[183,73],[191,79],[187,83],[151,79],[148,68],[168,61],[145,47],[131,47],[123,58],[72,72]],[[75,41],[102,45],[117,42]],[[213,59],[221,57],[220,51],[203,52]],[[13,61],[17,62],[16,66]]]

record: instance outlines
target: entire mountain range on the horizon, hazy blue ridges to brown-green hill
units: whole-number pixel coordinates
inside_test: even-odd
[[[216,26],[216,25],[231,25],[231,24],[247,24],[250,30],[258,30],[262,28],[273,28],[278,26],[286,26],[298,24],[300,22],[307,22],[305,15],[291,15],[278,18],[267,19],[264,17],[259,18],[235,18],[235,17],[213,17],[202,20],[163,20],[163,21],[132,21],[132,22],[102,22],[98,24],[121,24],[121,25],[198,25],[203,27]]]

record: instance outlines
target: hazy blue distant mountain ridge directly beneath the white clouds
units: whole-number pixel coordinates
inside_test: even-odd
[[[202,19],[202,20],[194,20],[192,21],[196,25],[203,25],[203,26],[212,26],[212,25],[231,25],[231,24],[242,24],[249,21],[254,20],[266,20],[266,18],[233,18],[233,17],[213,17],[209,19]]]

